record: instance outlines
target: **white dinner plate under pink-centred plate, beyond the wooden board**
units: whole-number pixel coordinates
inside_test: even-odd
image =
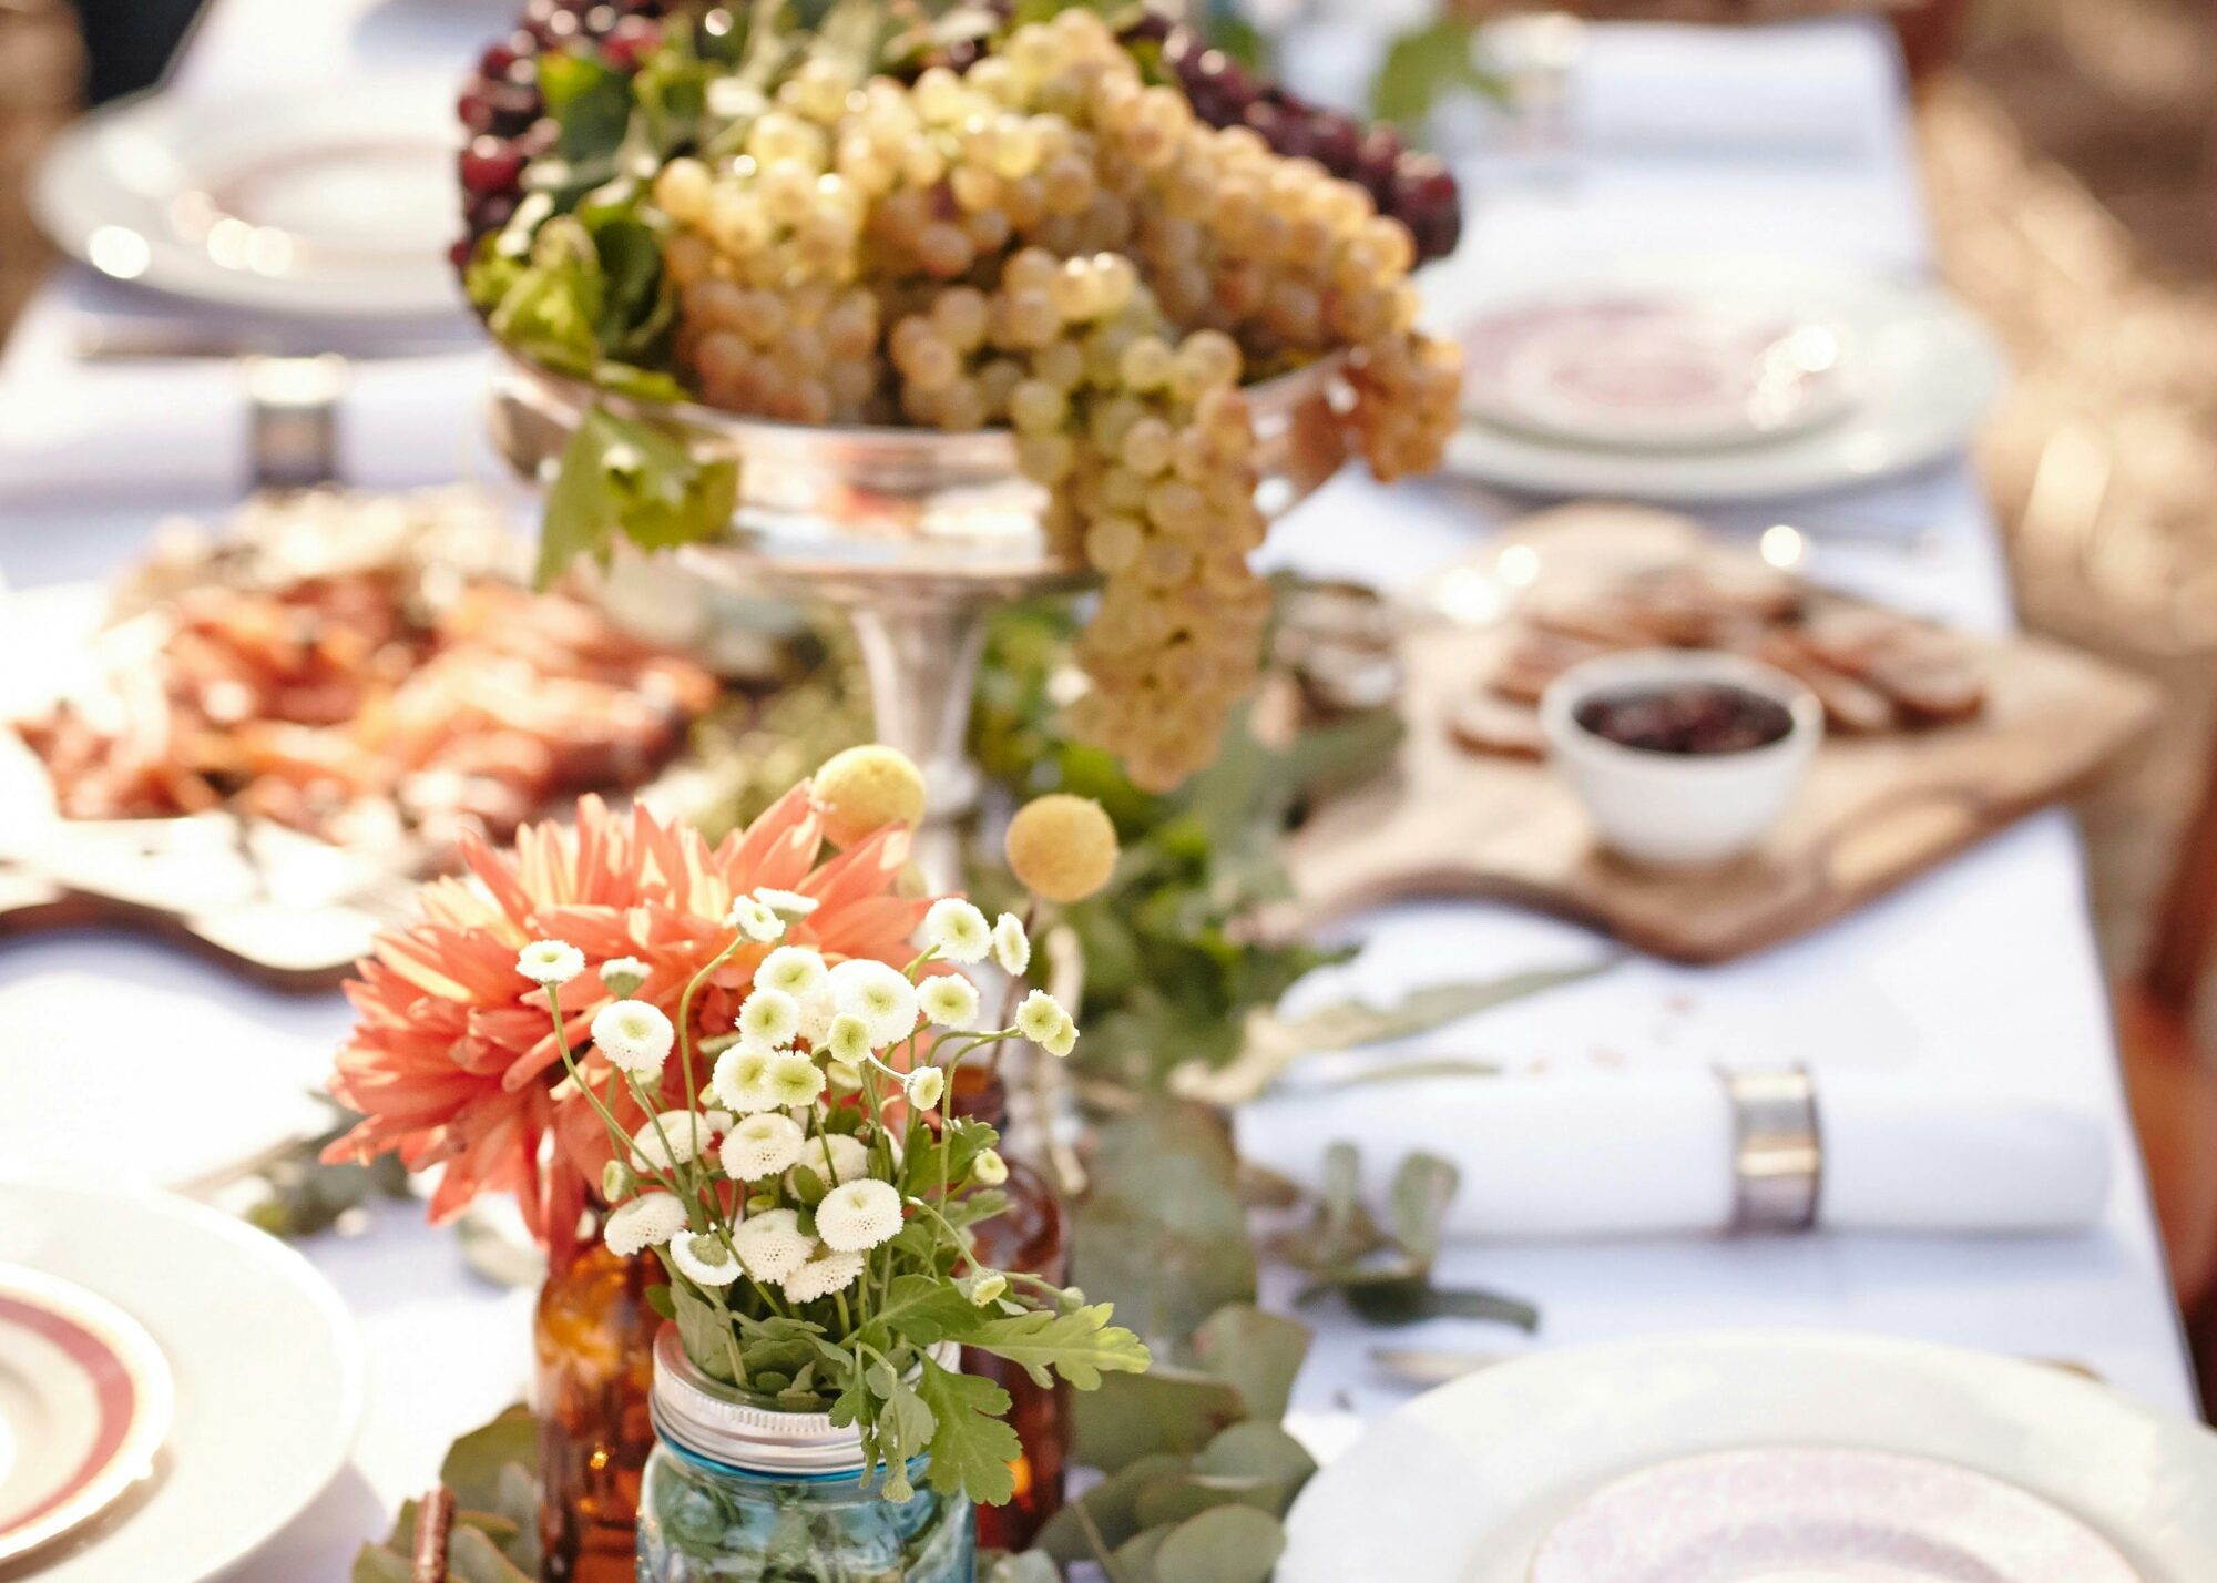
[[[1430,282],[1432,277],[1428,277]],[[1448,446],[1448,466],[1534,494],[1607,494],[1647,501],[1731,501],[1811,494],[1891,477],[1962,450],[2006,379],[1993,335],[1924,282],[1785,257],[1638,259],[1572,275],[1470,282],[1439,277],[1426,319],[1472,324],[1565,302],[1700,304],[1736,324],[1780,319],[1825,326],[1840,364],[1778,432],[1610,426],[1581,408],[1583,441],[1554,421],[1503,423],[1503,401],[1479,386],[1479,412]],[[1494,421],[1488,421],[1488,415]],[[1541,415],[1543,419],[1545,415]],[[1712,439],[1703,441],[1700,430]],[[1603,441],[1616,443],[1603,443]]]

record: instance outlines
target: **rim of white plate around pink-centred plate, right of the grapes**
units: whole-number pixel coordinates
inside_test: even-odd
[[[1822,494],[1915,472],[1962,452],[2009,381],[2009,357],[2000,339],[1942,284],[1789,253],[1634,255],[1565,264],[1554,273],[1516,270],[1496,279],[1428,273],[1426,286],[1434,295],[1428,297],[1423,317],[1439,333],[1454,335],[1479,313],[1539,295],[1676,284],[1729,288],[1731,282],[1747,282],[1749,290],[1765,295],[1809,293],[1811,317],[1842,321],[1858,344],[1858,364],[1862,344],[1871,339],[1869,304],[1889,306],[1900,324],[1924,321],[1933,326],[1927,335],[1951,337],[1955,388],[1944,392],[1949,399],[1938,404],[1940,410],[1922,428],[1911,426],[1898,406],[1862,399],[1858,392],[1849,410],[1809,430],[1680,452],[1547,441],[1465,417],[1448,443],[1445,470],[1541,497],[1614,494],[1676,505]],[[1849,299],[1860,299],[1864,313],[1847,308]],[[1849,377],[1860,381],[1864,370],[1851,370]],[[1938,395],[1942,392],[1924,390],[1929,401],[1938,401]],[[1842,457],[1858,443],[1867,459],[1847,463]]]

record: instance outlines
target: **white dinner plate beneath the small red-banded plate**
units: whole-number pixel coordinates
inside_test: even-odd
[[[86,1157],[100,1146],[86,1140]],[[330,1284],[275,1237],[171,1195],[0,1182],[0,1262],[122,1308],[175,1379],[153,1477],[42,1550],[38,1583],[202,1583],[346,1463],[361,1341]]]

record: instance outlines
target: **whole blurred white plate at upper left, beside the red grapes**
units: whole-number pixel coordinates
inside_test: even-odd
[[[452,75],[262,98],[142,93],[62,131],[31,182],[53,242],[104,275],[259,313],[452,315]]]

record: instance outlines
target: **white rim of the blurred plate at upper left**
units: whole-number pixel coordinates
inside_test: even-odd
[[[109,173],[102,144],[118,133],[162,135],[164,126],[188,124],[197,118],[259,120],[264,126],[297,124],[299,118],[317,120],[361,109],[368,104],[408,106],[417,98],[452,106],[452,84],[446,75],[428,71],[388,71],[346,84],[339,95],[324,89],[293,89],[248,95],[244,100],[211,102],[202,95],[177,93],[153,86],[140,93],[111,100],[78,120],[69,122],[40,153],[24,184],[24,200],[31,219],[58,248],[93,268],[104,279],[113,279],[91,255],[93,235],[109,224],[120,224],[115,211],[102,211],[102,200],[91,188],[118,186]],[[395,118],[395,131],[406,124]],[[461,129],[448,115],[443,135],[459,146]],[[75,184],[89,188],[86,195]],[[142,226],[126,226],[140,231]],[[461,208],[457,197],[454,235],[461,235]],[[463,310],[461,286],[443,257],[430,257],[421,268],[390,268],[375,275],[375,284],[361,277],[333,282],[315,275],[270,277],[251,270],[231,270],[197,262],[197,251],[166,231],[146,235],[151,248],[146,268],[126,277],[126,284],[157,290],[182,302],[200,302],[219,308],[268,313],[277,317],[335,317],[350,321],[435,321]]]

